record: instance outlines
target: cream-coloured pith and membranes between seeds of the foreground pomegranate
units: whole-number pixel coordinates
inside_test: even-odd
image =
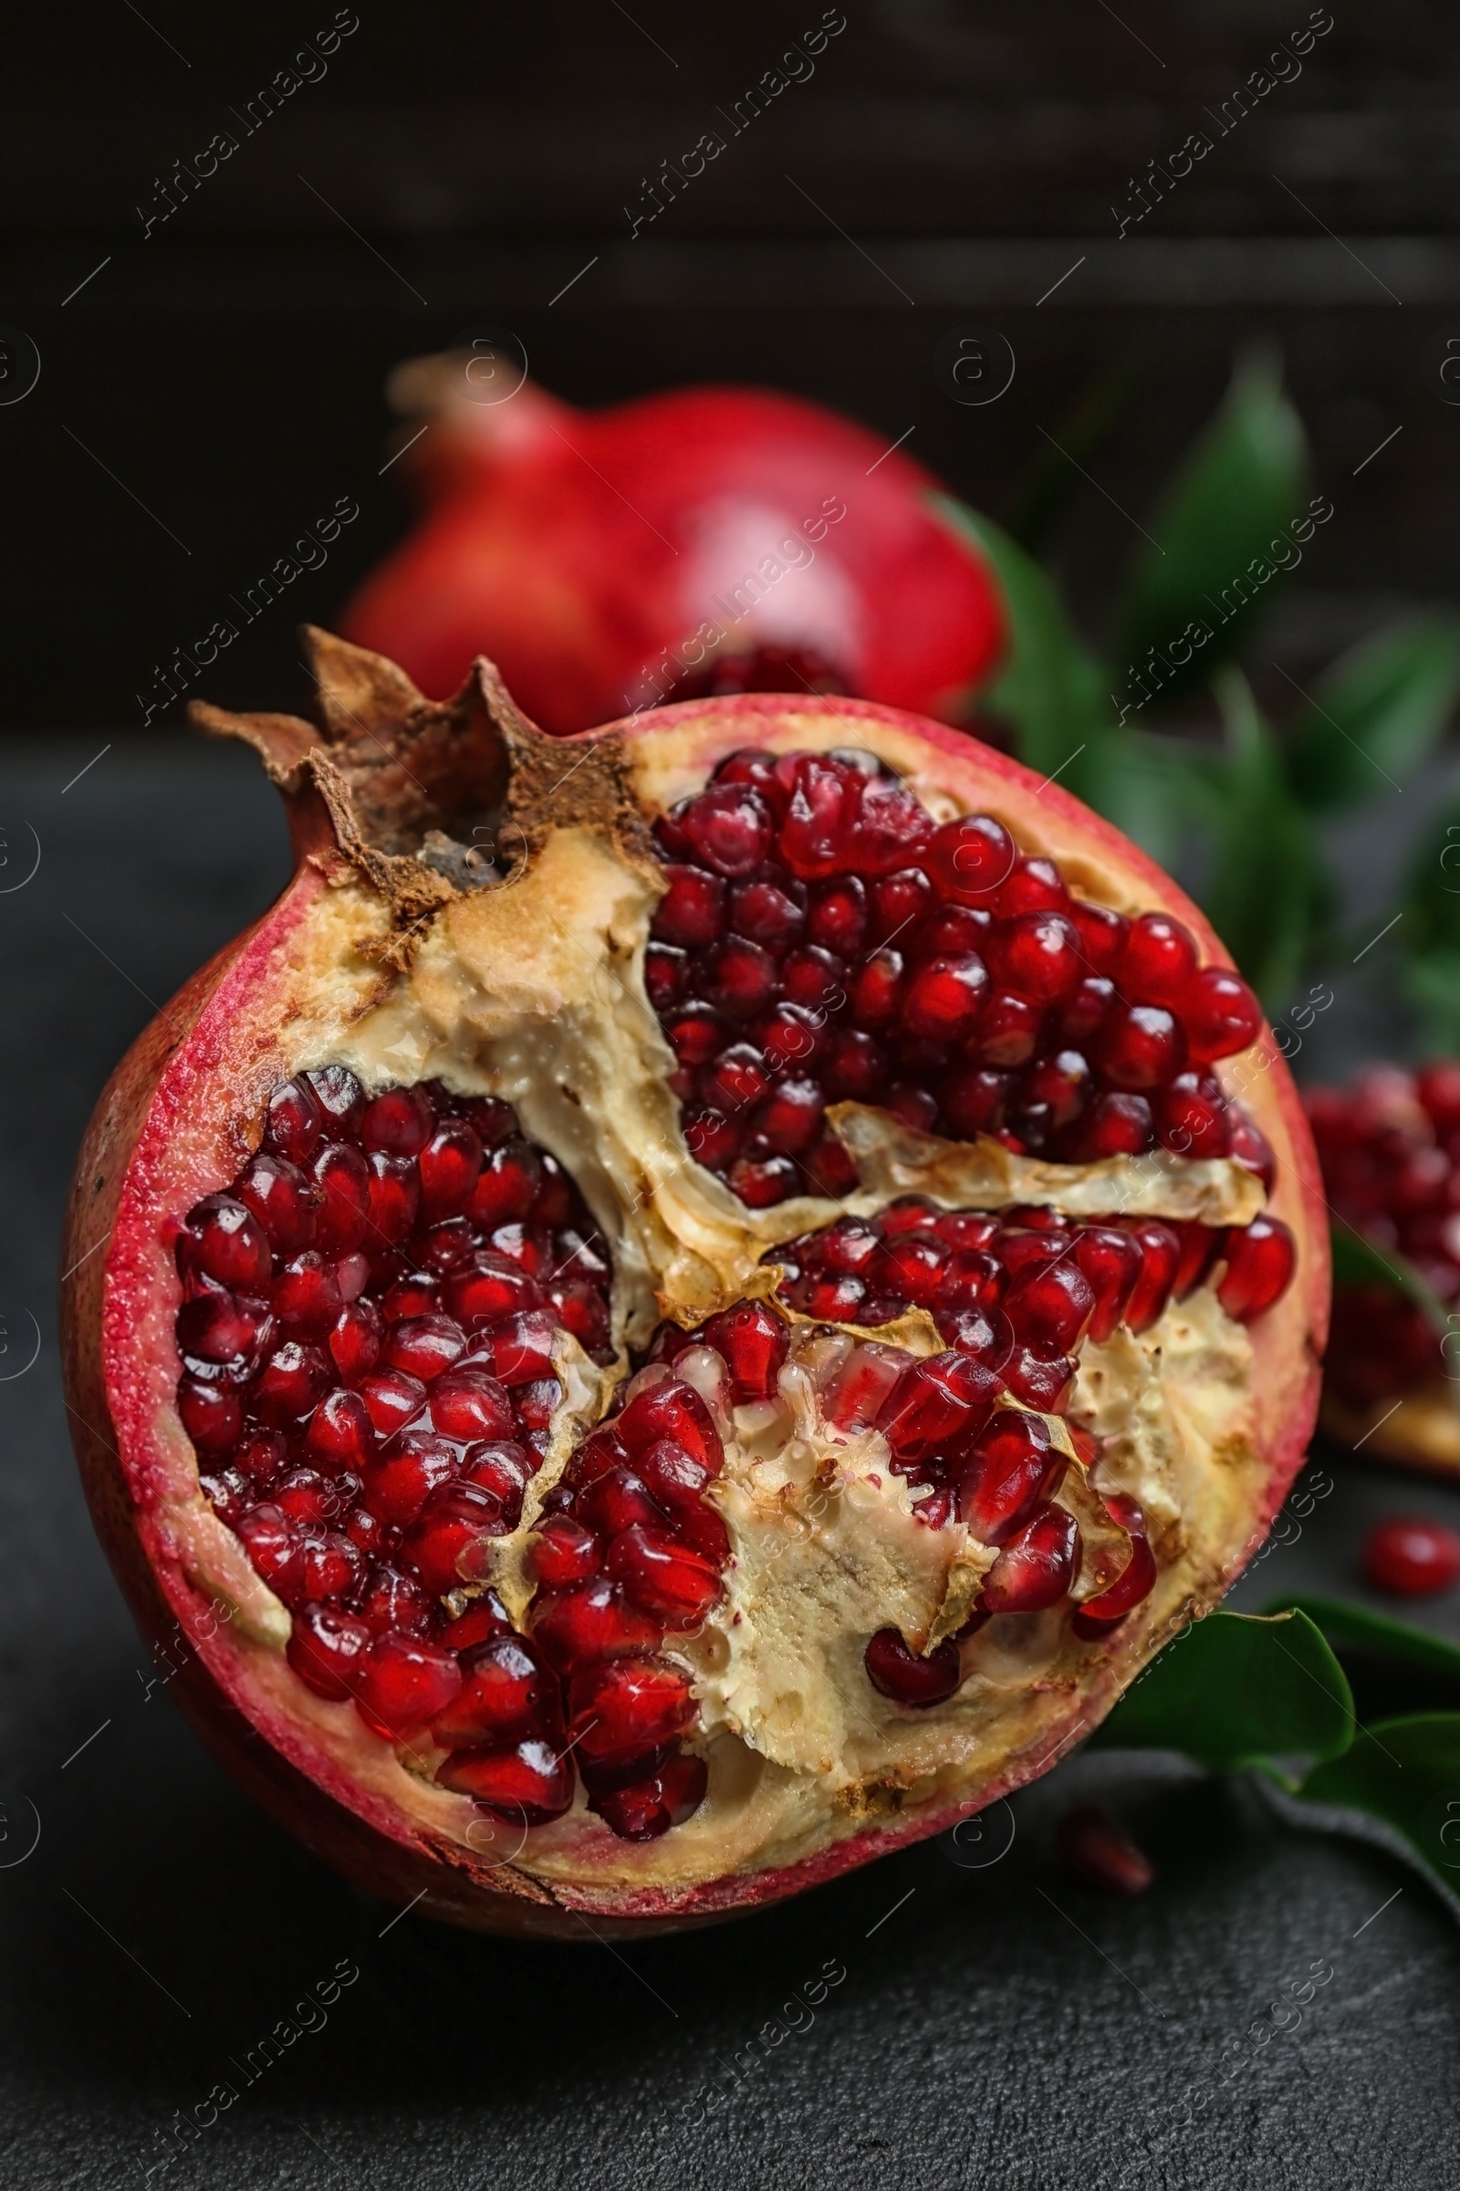
[[[760,743],[792,752],[841,741],[838,719],[808,712],[781,716]],[[926,758],[895,730],[878,727],[867,743],[893,769]],[[650,813],[705,780],[692,727],[683,745],[661,734],[633,762]],[[939,819],[963,811],[915,773],[911,789]],[[981,800],[981,811],[998,815],[998,798]],[[1092,861],[1033,844],[1022,815],[1011,826],[1022,850],[1059,859],[1075,894],[1140,909]],[[528,1488],[521,1527],[493,1547],[490,1582],[523,1630],[534,1518],[630,1374],[628,1350],[641,1350],[661,1317],[694,1328],[746,1295],[764,1297],[773,1277],[762,1258],[777,1242],[843,1214],[873,1216],[906,1194],[946,1209],[1038,1203],[1070,1216],[1123,1212],[1213,1227],[1248,1225],[1263,1205],[1261,1183],[1228,1159],[1154,1152],[1042,1163],[994,1142],[937,1142],[884,1113],[841,1106],[834,1117],[860,1190],[845,1203],[799,1196],[744,1207],[690,1159],[679,1133],[668,1087],[674,1056],[644,990],[657,894],[606,830],[558,828],[517,879],[440,907],[409,964],[383,973],[390,909],[368,883],[344,881],[306,909],[280,997],[280,1076],[337,1063],[368,1091],[438,1078],[460,1096],[510,1102],[523,1135],[576,1181],[611,1249],[619,1367],[598,1369],[558,1334],[565,1402],[554,1446]],[[1232,1085],[1239,1063],[1215,1067],[1217,1078]],[[725,1472],[709,1496],[731,1534],[725,1597],[698,1634],[668,1634],[659,1645],[696,1678],[700,1724],[687,1748],[709,1764],[705,1803],[661,1840],[626,1843],[584,1810],[580,1788],[567,1816],[525,1834],[514,1867],[549,1891],[584,1880],[683,1889],[784,1867],[917,1805],[941,1810],[961,1790],[1029,1777],[1051,1748],[1051,1724],[1090,1689],[1092,1659],[1119,1661],[1112,1700],[1154,1639],[1239,1562],[1263,1512],[1252,1341],[1221,1310],[1213,1290],[1219,1275],[1221,1266],[1145,1334],[1121,1330],[1105,1345],[1086,1345],[1066,1407],[1103,1442],[1099,1481],[1073,1461],[1055,1494],[1086,1540],[1075,1597],[1103,1588],[1129,1549],[1099,1490],[1140,1505],[1158,1564],[1151,1595],[1105,1641],[1079,1641],[1068,1606],[994,1617],[961,1648],[961,1689],[919,1711],[871,1687],[867,1641],[893,1626],[915,1650],[939,1643],[963,1624],[996,1551],[961,1523],[917,1523],[915,1496],[889,1472],[880,1433],[836,1431],[816,1393],[849,1345],[932,1354],[943,1341],[917,1310],[860,1337],[792,1319],[781,1400],[720,1418]],[[709,1387],[714,1363],[700,1367]],[[1059,1418],[1048,1422],[1070,1450]],[[190,1453],[175,1418],[173,1435]],[[195,1584],[236,1608],[230,1641],[250,1654],[252,1678],[280,1716],[306,1727],[348,1781],[405,1810],[436,1840],[493,1862],[501,1840],[484,1840],[473,1803],[431,1781],[444,1753],[429,1742],[396,1753],[350,1705],[324,1702],[293,1676],[282,1656],[289,1613],[201,1492],[190,1490],[169,1523]]]

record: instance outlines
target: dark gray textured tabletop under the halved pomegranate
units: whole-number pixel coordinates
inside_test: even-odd
[[[0,1376],[39,1328],[35,1365],[0,1385],[0,2178],[1451,2187],[1460,1935],[1412,1871],[1281,1827],[1241,1783],[1077,1757],[1018,1799],[994,1862],[930,1845],[626,1952],[396,1917],[232,1790],[166,1689],[147,1691],[90,1532],[55,1374],[55,1236],[105,1071],[149,999],[282,881],[285,839],[243,756],[134,745],[72,782],[101,745],[0,760]],[[1460,1512],[1329,1466],[1333,1494],[1248,1599],[1353,1588],[1375,1512]],[[1048,1856],[1090,1783],[1158,1865],[1136,1904]],[[309,2007],[341,1963],[359,1976]],[[792,2007],[825,1963],[845,1978]],[[1333,1976],[1302,2022],[1243,2049],[1316,1963]],[[313,2029],[258,2073],[280,2022]],[[219,2084],[239,2097],[179,2143],[177,2110],[208,2114]]]

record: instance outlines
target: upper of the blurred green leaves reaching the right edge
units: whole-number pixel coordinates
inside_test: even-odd
[[[1320,813],[1401,791],[1460,692],[1460,629],[1416,618],[1361,640],[1320,679],[1287,738],[1287,780]]]

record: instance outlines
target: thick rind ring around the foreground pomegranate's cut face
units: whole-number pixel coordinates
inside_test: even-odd
[[[484,666],[479,688],[488,681]],[[1204,957],[1226,964],[1200,911],[1116,830],[1059,787],[1040,784],[1016,762],[932,723],[871,703],[838,701],[832,714],[744,697],[661,710],[571,743],[595,749],[602,782],[626,776],[654,808],[679,789],[694,789],[722,754],[742,745],[847,745],[856,736],[849,719],[915,780],[941,787],[970,811],[998,813],[1029,850],[1059,859],[1077,887],[1108,903],[1173,911],[1197,936]],[[558,1937],[582,1937],[580,1915],[598,1930],[630,1935],[781,1900],[943,1832],[1038,1777],[1103,1718],[1158,1648],[1147,1628],[1132,1621],[1088,1652],[1079,1691],[1046,1698],[1029,1740],[972,1786],[932,1786],[917,1799],[887,1790],[865,1816],[843,1814],[836,1836],[812,1854],[687,1884],[591,1873],[545,1880],[517,1867],[510,1854],[503,1860],[499,1838],[475,1856],[466,1799],[407,1773],[352,1713],[309,1696],[291,1676],[280,1648],[287,1615],[206,1507],[193,1448],[177,1424],[171,1330],[177,1280],[166,1220],[236,1172],[247,1155],[239,1122],[260,1111],[269,1087],[309,1049],[309,1025],[291,1019],[289,1001],[311,995],[320,931],[348,916],[374,947],[374,955],[357,955],[344,990],[335,982],[328,995],[337,1025],[385,993],[392,964],[401,964],[403,920],[429,918],[431,903],[449,903],[453,890],[438,896],[422,883],[418,896],[427,905],[418,907],[407,872],[414,859],[396,852],[366,859],[359,844],[341,850],[337,802],[317,767],[324,741],[313,734],[311,747],[300,736],[306,725],[276,721],[282,730],[271,760],[291,798],[298,874],[254,929],[184,986],[114,1074],[81,1150],[63,1249],[68,1407],[92,1514],[142,1632],[182,1661],[175,1687],[204,1740],[267,1810],[368,1891],[392,1902],[420,1895],[431,1915],[484,1930]],[[381,859],[392,865],[381,870]],[[1283,1301],[1250,1330],[1263,1470],[1252,1529],[1241,1551],[1193,1591],[1184,1615],[1221,1595],[1261,1542],[1302,1461],[1326,1321],[1318,1166],[1270,1034],[1221,1074],[1276,1152],[1272,1209],[1291,1227],[1298,1262]]]

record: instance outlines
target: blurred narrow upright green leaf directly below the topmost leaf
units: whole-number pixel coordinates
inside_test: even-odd
[[[1294,800],[1278,745],[1237,670],[1217,679],[1226,754],[1219,822],[1202,907],[1272,1017],[1298,986],[1333,890],[1313,824]]]

